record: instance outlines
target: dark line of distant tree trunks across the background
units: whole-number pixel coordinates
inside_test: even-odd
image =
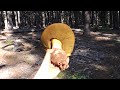
[[[0,11],[0,29],[45,28],[52,23],[71,28],[120,28],[119,11]]]

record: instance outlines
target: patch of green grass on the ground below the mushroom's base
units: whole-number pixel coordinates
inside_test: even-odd
[[[61,72],[58,75],[59,79],[87,79],[85,75],[82,75],[79,72],[71,73],[69,71],[67,72]]]

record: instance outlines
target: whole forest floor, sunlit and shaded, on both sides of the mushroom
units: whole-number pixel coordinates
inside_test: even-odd
[[[57,79],[119,79],[120,33],[92,31],[90,37],[84,37],[79,29],[73,31],[75,47],[69,68]],[[41,32],[0,34],[0,78],[29,79],[35,75],[45,55]],[[13,51],[12,43],[16,39],[23,44],[24,49],[20,52]],[[4,47],[8,44],[11,45]]]

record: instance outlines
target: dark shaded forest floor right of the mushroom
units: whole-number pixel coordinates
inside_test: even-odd
[[[76,43],[70,68],[59,77],[72,79],[119,79],[120,35],[117,32],[91,32],[91,37],[75,31]]]

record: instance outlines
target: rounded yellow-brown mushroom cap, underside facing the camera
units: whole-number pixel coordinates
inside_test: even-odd
[[[72,29],[63,23],[54,23],[46,27],[41,35],[41,41],[46,49],[51,49],[51,40],[58,39],[67,56],[71,56],[74,49],[75,36]]]

